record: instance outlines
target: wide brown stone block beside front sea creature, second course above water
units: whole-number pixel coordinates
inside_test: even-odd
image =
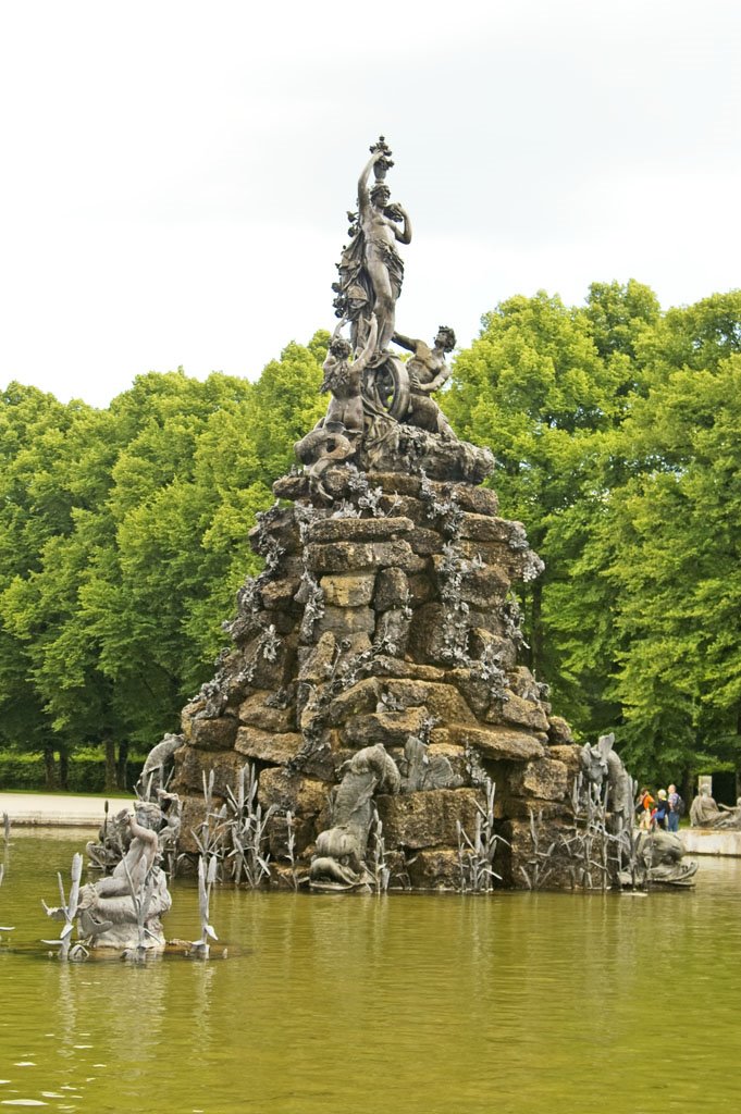
[[[390,848],[457,847],[457,821],[471,832],[476,824],[474,789],[432,789],[423,793],[381,795],[378,812]]]

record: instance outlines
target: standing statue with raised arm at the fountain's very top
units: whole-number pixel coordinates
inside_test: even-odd
[[[333,285],[338,294],[337,315],[351,322],[355,350],[365,345],[371,313],[378,320],[379,352],[388,349],[403,281],[403,262],[396,245],[411,242],[407,212],[401,205],[389,204],[390,190],[384,179],[393,166],[390,156],[381,136],[371,147],[371,157],[358,182],[358,213],[349,214],[351,238],[338,266],[340,281]],[[371,170],[376,180],[369,188]]]

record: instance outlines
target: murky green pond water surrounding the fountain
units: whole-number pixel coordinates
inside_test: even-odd
[[[226,959],[65,965],[40,899],[82,842],[11,837],[0,1112],[741,1110],[741,861],[649,897],[225,888]],[[196,909],[176,883],[167,936]]]

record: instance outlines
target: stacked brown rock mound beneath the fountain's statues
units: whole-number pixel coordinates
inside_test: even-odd
[[[423,473],[340,467],[322,488],[303,475],[274,486],[279,502],[251,534],[265,571],[240,593],[214,681],[184,709],[174,788],[185,849],[204,771],[220,798],[253,762],[261,804],[277,810],[275,877],[287,810],[308,864],[343,763],[383,743],[402,768],[406,740],[427,730],[430,759],[447,759],[457,785],[379,797],[391,885],[457,887],[457,825],[474,830],[481,772],[508,844],[497,870],[523,885],[530,812],[557,831],[578,769],[567,724],[518,664],[511,587],[542,568],[523,527],[498,516],[494,491]]]

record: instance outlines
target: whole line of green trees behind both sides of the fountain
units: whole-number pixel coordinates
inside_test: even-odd
[[[0,746],[51,774],[174,730],[257,558],[246,540],[319,419],[329,335],[252,383],[138,377],[105,410],[0,395]],[[741,765],[741,292],[662,311],[640,283],[503,302],[439,401],[489,446],[545,574],[529,664],[641,778]]]

